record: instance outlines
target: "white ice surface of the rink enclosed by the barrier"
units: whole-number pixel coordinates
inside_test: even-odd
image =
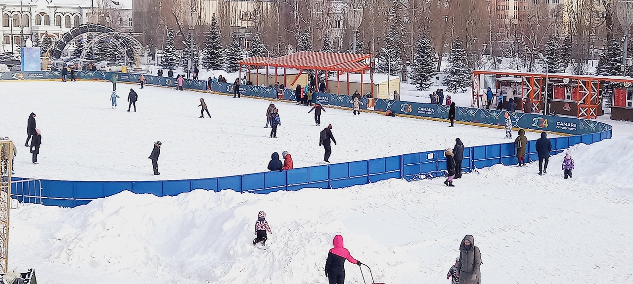
[[[273,152],[289,151],[295,167],[323,164],[318,135],[332,124],[337,145],[330,162],[349,162],[403,153],[503,143],[505,131],[446,122],[385,117],[327,108],[322,125],[308,107],[275,102],[282,125],[277,139],[265,129],[269,101],[119,83],[118,109],[111,109],[109,82],[3,82],[0,135],[16,141],[17,177],[61,180],[166,180],[221,177],[266,170]],[[127,93],[139,93],[137,112],[128,113]],[[199,118],[203,97],[212,119]],[[31,163],[26,139],[28,115],[42,129],[39,165]],[[206,117],[206,114],[205,114]],[[538,133],[527,133],[536,139]],[[163,143],[161,175],[147,158],[154,141]]]

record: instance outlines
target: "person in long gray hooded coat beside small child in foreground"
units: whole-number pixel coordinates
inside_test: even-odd
[[[466,235],[460,244],[460,263],[457,266],[460,284],[480,284],[481,252],[475,247],[475,238]]]

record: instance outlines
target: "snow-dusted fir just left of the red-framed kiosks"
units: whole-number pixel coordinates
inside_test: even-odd
[[[472,83],[472,70],[466,62],[466,50],[461,45],[461,40],[456,38],[453,49],[448,59],[448,66],[444,71],[444,85],[446,90],[451,93],[464,92]]]

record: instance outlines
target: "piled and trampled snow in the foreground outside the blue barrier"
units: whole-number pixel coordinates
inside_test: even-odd
[[[9,268],[33,267],[51,284],[324,284],[327,250],[342,234],[376,281],[448,283],[460,240],[472,234],[486,283],[630,283],[633,124],[615,124],[613,139],[569,150],[570,180],[561,154],[544,176],[537,163],[496,165],[452,188],[392,179],[267,195],[122,192],[77,208],[23,204],[11,211]],[[260,210],[273,232],[266,251],[251,245]],[[353,264],[346,278],[362,283]]]

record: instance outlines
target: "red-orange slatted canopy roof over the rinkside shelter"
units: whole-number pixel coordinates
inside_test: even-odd
[[[371,69],[369,64],[365,63],[365,59],[370,56],[370,54],[299,51],[277,58],[249,57],[238,63],[278,68],[358,72]]]

